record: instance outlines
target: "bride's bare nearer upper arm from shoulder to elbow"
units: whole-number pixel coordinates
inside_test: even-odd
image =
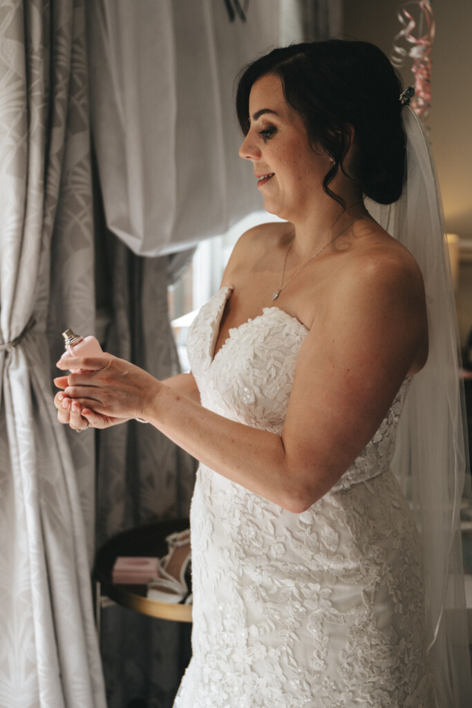
[[[341,278],[299,352],[282,442],[307,506],[372,439],[425,334],[419,270],[386,260]]]

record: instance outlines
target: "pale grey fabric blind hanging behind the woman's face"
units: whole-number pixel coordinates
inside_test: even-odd
[[[108,228],[141,256],[188,248],[262,207],[234,79],[277,44],[280,0],[229,21],[223,0],[98,0],[91,107]]]

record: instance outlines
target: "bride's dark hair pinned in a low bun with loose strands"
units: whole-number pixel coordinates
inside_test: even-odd
[[[282,79],[287,103],[304,121],[310,142],[333,158],[323,189],[330,190],[341,169],[367,197],[391,204],[401,196],[405,134],[401,126],[401,81],[384,52],[369,42],[328,40],[272,50],[249,64],[238,79],[236,111],[244,135],[249,130],[251,87],[266,74]],[[354,128],[350,173],[343,160]]]

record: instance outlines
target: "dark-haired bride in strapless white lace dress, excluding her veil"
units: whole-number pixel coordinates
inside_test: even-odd
[[[413,516],[389,469],[428,357],[411,253],[364,197],[403,189],[401,86],[364,42],[274,50],[238,86],[240,154],[285,219],[241,236],[158,382],[66,358],[59,421],[142,418],[200,460],[192,662],[175,706],[430,707]]]

